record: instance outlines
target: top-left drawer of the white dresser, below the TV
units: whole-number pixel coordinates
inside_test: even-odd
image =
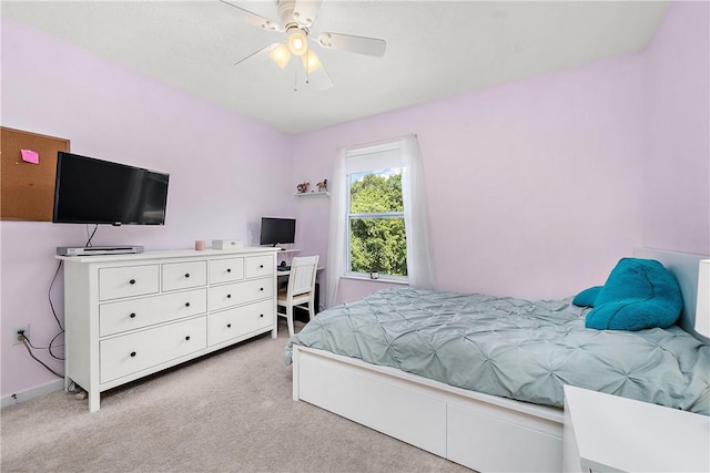
[[[99,300],[156,294],[159,268],[159,265],[144,265],[99,269]]]

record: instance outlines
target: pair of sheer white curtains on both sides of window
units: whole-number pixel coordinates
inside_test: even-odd
[[[434,270],[429,251],[424,167],[416,135],[400,140],[402,193],[407,236],[407,279],[410,287],[434,289]],[[389,142],[393,143],[393,142]],[[396,143],[396,141],[394,142]],[[369,147],[369,146],[368,146]],[[388,146],[387,146],[388,147]],[[358,147],[362,148],[362,147]],[[357,154],[354,150],[351,153]],[[341,277],[345,274],[347,228],[347,186],[345,163],[347,148],[337,152],[331,186],[331,224],[328,229],[327,307],[335,306]]]

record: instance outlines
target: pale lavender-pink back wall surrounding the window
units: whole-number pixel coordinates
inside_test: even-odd
[[[641,243],[642,79],[621,58],[333,126],[295,137],[294,169],[416,133],[438,287],[565,297]],[[297,217],[324,256],[326,204]],[[376,286],[345,281],[341,300]]]

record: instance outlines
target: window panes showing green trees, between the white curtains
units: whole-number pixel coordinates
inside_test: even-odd
[[[348,276],[406,281],[400,155],[397,143],[346,153],[345,274]]]

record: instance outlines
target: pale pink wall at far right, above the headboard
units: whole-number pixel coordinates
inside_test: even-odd
[[[710,4],[668,12],[647,53],[643,240],[710,254]]]

